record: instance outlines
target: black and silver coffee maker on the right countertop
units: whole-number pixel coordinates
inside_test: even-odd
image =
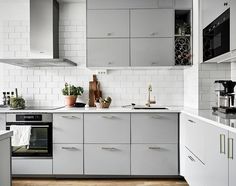
[[[214,111],[225,114],[236,113],[235,92],[236,82],[231,80],[216,80],[215,92],[217,93],[217,107],[213,107]]]

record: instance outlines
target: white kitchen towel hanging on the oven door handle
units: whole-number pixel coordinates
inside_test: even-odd
[[[13,147],[26,146],[30,143],[31,126],[28,125],[11,125],[10,130],[13,131],[11,144]]]

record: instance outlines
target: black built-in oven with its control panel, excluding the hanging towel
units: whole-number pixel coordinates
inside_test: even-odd
[[[13,157],[52,157],[52,114],[7,114],[6,129],[11,125],[31,126],[29,145],[12,146]]]

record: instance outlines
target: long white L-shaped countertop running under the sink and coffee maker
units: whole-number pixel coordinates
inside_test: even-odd
[[[214,115],[212,110],[198,110],[183,107],[167,107],[168,109],[132,109],[123,107],[101,108],[67,108],[63,107],[56,110],[11,110],[0,108],[0,113],[185,113],[196,117],[212,125],[224,128],[236,133],[236,115],[227,115],[227,118]]]

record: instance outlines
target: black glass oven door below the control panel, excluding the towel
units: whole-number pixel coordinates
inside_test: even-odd
[[[11,125],[30,125],[29,146],[12,146],[13,157],[52,157],[52,123],[7,123]]]

